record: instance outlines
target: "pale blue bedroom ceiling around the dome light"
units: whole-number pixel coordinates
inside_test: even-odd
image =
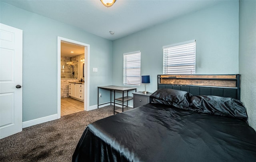
[[[100,0],[1,1],[116,40],[224,0],[116,0],[109,8]]]

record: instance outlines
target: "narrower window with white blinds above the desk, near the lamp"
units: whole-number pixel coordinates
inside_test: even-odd
[[[140,51],[124,54],[124,85],[140,85]]]

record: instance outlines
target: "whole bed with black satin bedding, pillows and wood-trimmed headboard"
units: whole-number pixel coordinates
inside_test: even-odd
[[[158,75],[151,103],[89,124],[72,161],[255,162],[240,75],[190,77]]]

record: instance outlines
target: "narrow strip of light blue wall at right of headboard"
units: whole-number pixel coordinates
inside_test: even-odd
[[[239,2],[239,73],[241,101],[248,122],[256,130],[256,1]]]

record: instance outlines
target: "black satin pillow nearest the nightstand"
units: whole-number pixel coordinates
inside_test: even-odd
[[[190,96],[192,95],[186,91],[174,89],[159,89],[151,94],[151,97],[157,99],[153,99],[154,102],[168,105],[173,105],[173,103],[175,103],[176,105],[178,104],[187,107],[189,106],[188,98],[190,98]]]

